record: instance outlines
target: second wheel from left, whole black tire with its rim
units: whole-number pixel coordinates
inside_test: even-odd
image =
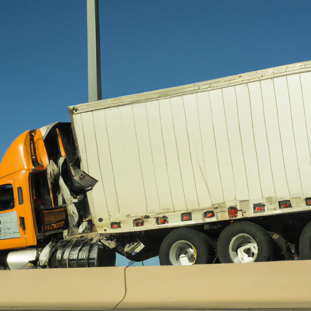
[[[222,263],[247,263],[272,260],[272,239],[261,226],[248,221],[226,227],[217,242]]]

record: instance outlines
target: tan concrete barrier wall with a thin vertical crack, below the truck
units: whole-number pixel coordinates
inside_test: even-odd
[[[1,271],[0,310],[311,310],[311,261]]]

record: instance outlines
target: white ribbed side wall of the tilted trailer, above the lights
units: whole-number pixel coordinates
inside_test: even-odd
[[[92,199],[111,221],[311,197],[310,72],[72,118],[82,169],[99,180]]]

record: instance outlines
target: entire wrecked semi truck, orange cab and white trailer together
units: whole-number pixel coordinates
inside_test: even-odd
[[[0,164],[0,268],[311,259],[311,61],[68,107]]]

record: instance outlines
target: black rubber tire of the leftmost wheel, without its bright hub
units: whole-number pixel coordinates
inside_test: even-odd
[[[179,228],[170,232],[162,241],[159,251],[160,265],[182,265],[182,263],[178,263],[178,252],[182,252],[182,246],[180,246],[179,251],[177,248],[176,253],[174,252],[174,249],[182,244],[191,244],[195,249],[194,253],[196,253],[196,258],[193,255],[193,264],[195,265],[211,263],[215,258],[213,248],[207,241],[207,236],[205,234],[189,228]],[[174,248],[172,248],[173,246]],[[174,262],[173,259],[172,263],[170,257],[177,258],[177,262]]]

